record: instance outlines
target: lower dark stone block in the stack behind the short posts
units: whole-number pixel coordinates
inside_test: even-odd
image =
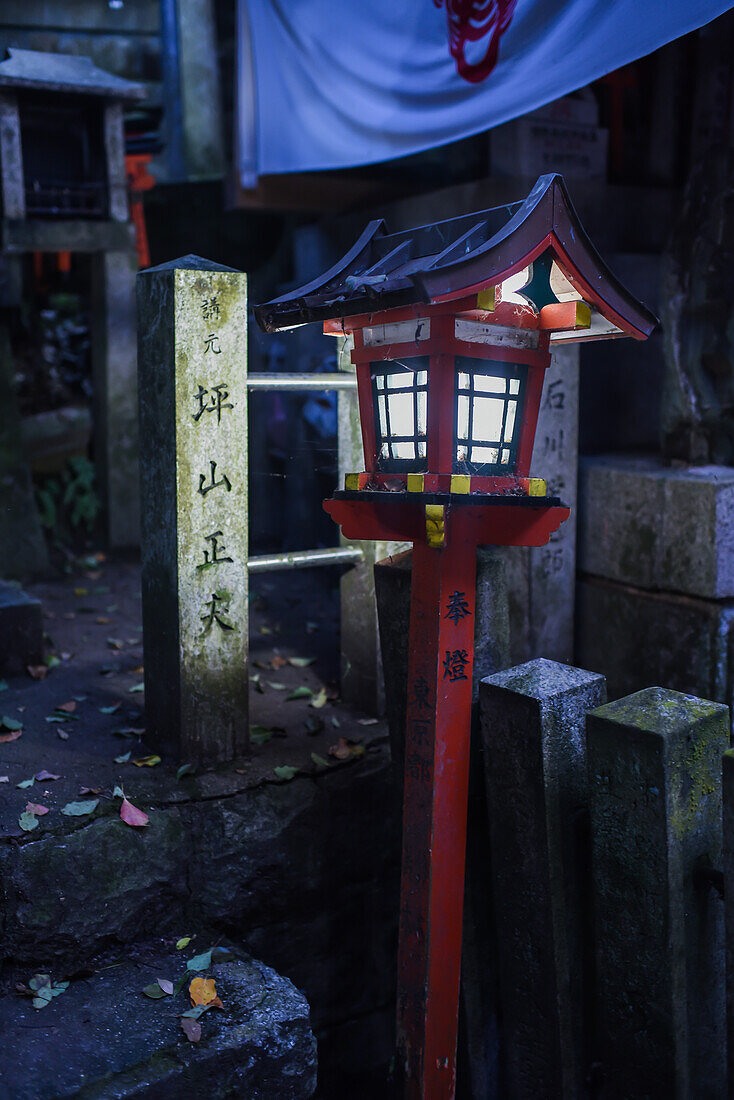
[[[725,702],[734,603],[644,592],[585,578],[577,585],[576,660],[602,672],[612,698],[650,683]]]

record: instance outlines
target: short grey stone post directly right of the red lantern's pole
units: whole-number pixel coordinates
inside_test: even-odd
[[[604,678],[543,658],[482,680],[503,1094],[583,1094],[584,721]]]

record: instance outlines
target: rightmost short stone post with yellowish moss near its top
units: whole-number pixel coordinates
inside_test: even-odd
[[[726,1096],[722,859],[728,710],[648,688],[587,723],[601,1096]]]

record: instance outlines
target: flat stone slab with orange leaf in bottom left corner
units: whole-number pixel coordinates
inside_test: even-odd
[[[157,1001],[141,992],[157,978],[175,981],[184,968],[180,953],[123,963],[73,981],[43,1015],[30,1000],[0,1000],[3,1094],[13,1100],[314,1094],[316,1041],[308,1004],[286,978],[252,958],[215,963],[207,974],[224,1009],[201,1018],[201,1040],[194,1044],[180,1028],[180,1013],[189,1008],[185,992]]]

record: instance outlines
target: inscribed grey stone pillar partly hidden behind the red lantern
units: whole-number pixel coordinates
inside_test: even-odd
[[[557,348],[543,388],[533,477],[545,477],[571,515],[545,547],[507,547],[513,663],[573,658],[576,502],[579,439],[579,348]]]

